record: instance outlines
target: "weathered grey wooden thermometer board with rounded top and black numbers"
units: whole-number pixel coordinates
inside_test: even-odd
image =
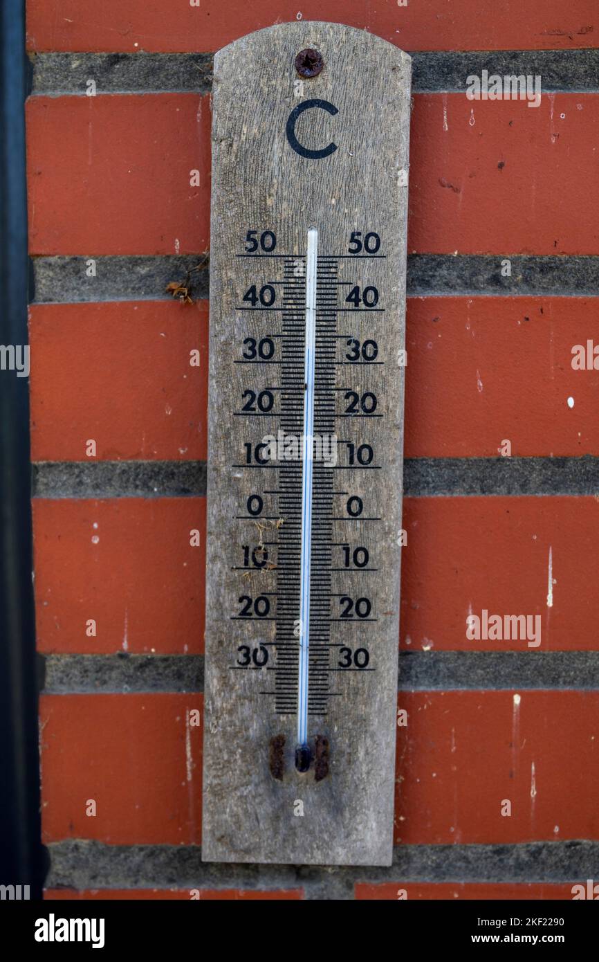
[[[320,71],[313,55],[296,64],[307,49]],[[208,861],[391,861],[410,66],[385,40],[303,21],[214,60]],[[298,772],[302,461],[261,445],[302,435],[311,228],[314,437],[331,456],[313,468],[312,764]]]

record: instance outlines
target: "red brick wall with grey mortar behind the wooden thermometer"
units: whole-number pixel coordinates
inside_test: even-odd
[[[29,0],[47,898],[569,899],[596,875],[599,371],[571,366],[597,337],[596,3],[377,6]],[[211,54],[299,13],[413,55],[391,869],[200,860]],[[540,106],[468,101],[483,68],[540,74]],[[467,641],[483,608],[540,616],[541,646]]]

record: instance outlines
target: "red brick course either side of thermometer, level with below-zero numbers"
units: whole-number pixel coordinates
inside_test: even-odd
[[[529,650],[525,641],[468,641],[466,618],[484,608],[540,615],[541,651],[596,649],[594,497],[406,498],[404,511],[404,650]],[[192,528],[199,548],[189,545]],[[131,652],[202,650],[203,498],[36,499],[34,531],[40,650],[122,650],[125,622]],[[96,638],[86,636],[90,618]]]

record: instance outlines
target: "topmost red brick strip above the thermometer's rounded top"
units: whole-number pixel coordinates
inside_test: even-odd
[[[160,0],[29,0],[31,50],[211,51],[273,23],[295,20],[297,3],[258,5],[201,0],[199,7]],[[305,0],[304,20],[347,23],[379,34],[405,50],[501,50],[587,47],[599,27],[593,0]],[[492,64],[491,64],[492,65]]]

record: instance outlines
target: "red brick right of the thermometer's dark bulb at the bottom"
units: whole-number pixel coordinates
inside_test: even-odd
[[[517,694],[400,695],[396,843],[599,839],[599,693]]]

